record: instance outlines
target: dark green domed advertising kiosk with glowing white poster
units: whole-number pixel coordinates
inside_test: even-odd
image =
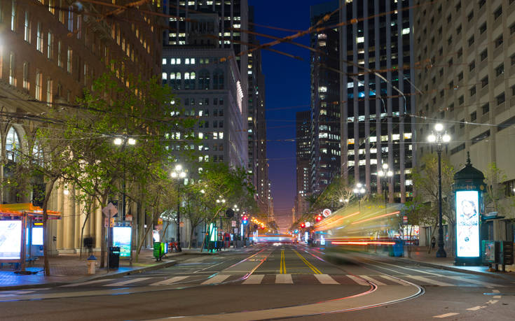
[[[456,213],[455,265],[481,265],[481,215],[485,176],[470,163],[454,174]]]

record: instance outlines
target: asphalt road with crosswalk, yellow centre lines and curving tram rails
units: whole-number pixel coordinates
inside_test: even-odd
[[[515,279],[303,245],[184,255],[166,269],[0,292],[1,320],[513,320]],[[224,313],[224,315],[220,315]]]

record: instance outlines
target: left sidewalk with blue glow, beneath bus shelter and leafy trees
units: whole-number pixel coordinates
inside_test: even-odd
[[[238,249],[227,249],[221,252],[200,252],[200,249],[183,249],[182,252],[167,253],[162,261],[156,262],[153,257],[153,250],[143,249],[139,253],[139,262],[133,262],[130,266],[128,259],[120,259],[119,269],[99,269],[99,260],[97,261],[97,273],[95,275],[88,275],[87,255],[79,258],[78,255],[59,255],[57,257],[50,257],[50,276],[43,275],[43,257],[34,262],[32,266],[27,266],[27,271],[32,271],[34,274],[18,275],[14,273],[11,264],[4,263],[0,268],[0,290],[14,290],[30,287],[52,287],[66,283],[85,282],[97,278],[108,277],[121,277],[132,273],[141,273],[143,271],[150,271],[153,269],[163,269],[167,266],[172,266],[177,263],[173,258],[179,255],[217,255]],[[97,259],[99,253],[95,253]],[[27,264],[28,265],[28,264]]]

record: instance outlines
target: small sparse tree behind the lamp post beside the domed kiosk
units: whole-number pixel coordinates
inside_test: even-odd
[[[454,252],[454,194],[452,185],[454,183],[455,169],[448,162],[448,159],[441,159],[441,194],[442,194],[442,216],[448,223],[448,233],[451,242],[448,245],[448,252]],[[438,157],[434,154],[426,154],[420,159],[420,166],[413,169],[413,190],[420,194],[423,201],[430,202],[430,211],[427,211],[425,222],[433,222],[432,234],[438,224]],[[445,222],[444,222],[445,223]],[[444,236],[445,238],[445,236]]]

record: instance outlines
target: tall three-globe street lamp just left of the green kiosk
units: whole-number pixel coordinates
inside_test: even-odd
[[[434,125],[434,131],[431,132],[430,136],[427,136],[427,141],[437,145],[438,153],[438,251],[437,257],[447,257],[444,250],[444,227],[442,225],[441,218],[441,151],[444,149],[444,143],[451,141],[451,136],[444,132],[444,125],[437,123]]]

